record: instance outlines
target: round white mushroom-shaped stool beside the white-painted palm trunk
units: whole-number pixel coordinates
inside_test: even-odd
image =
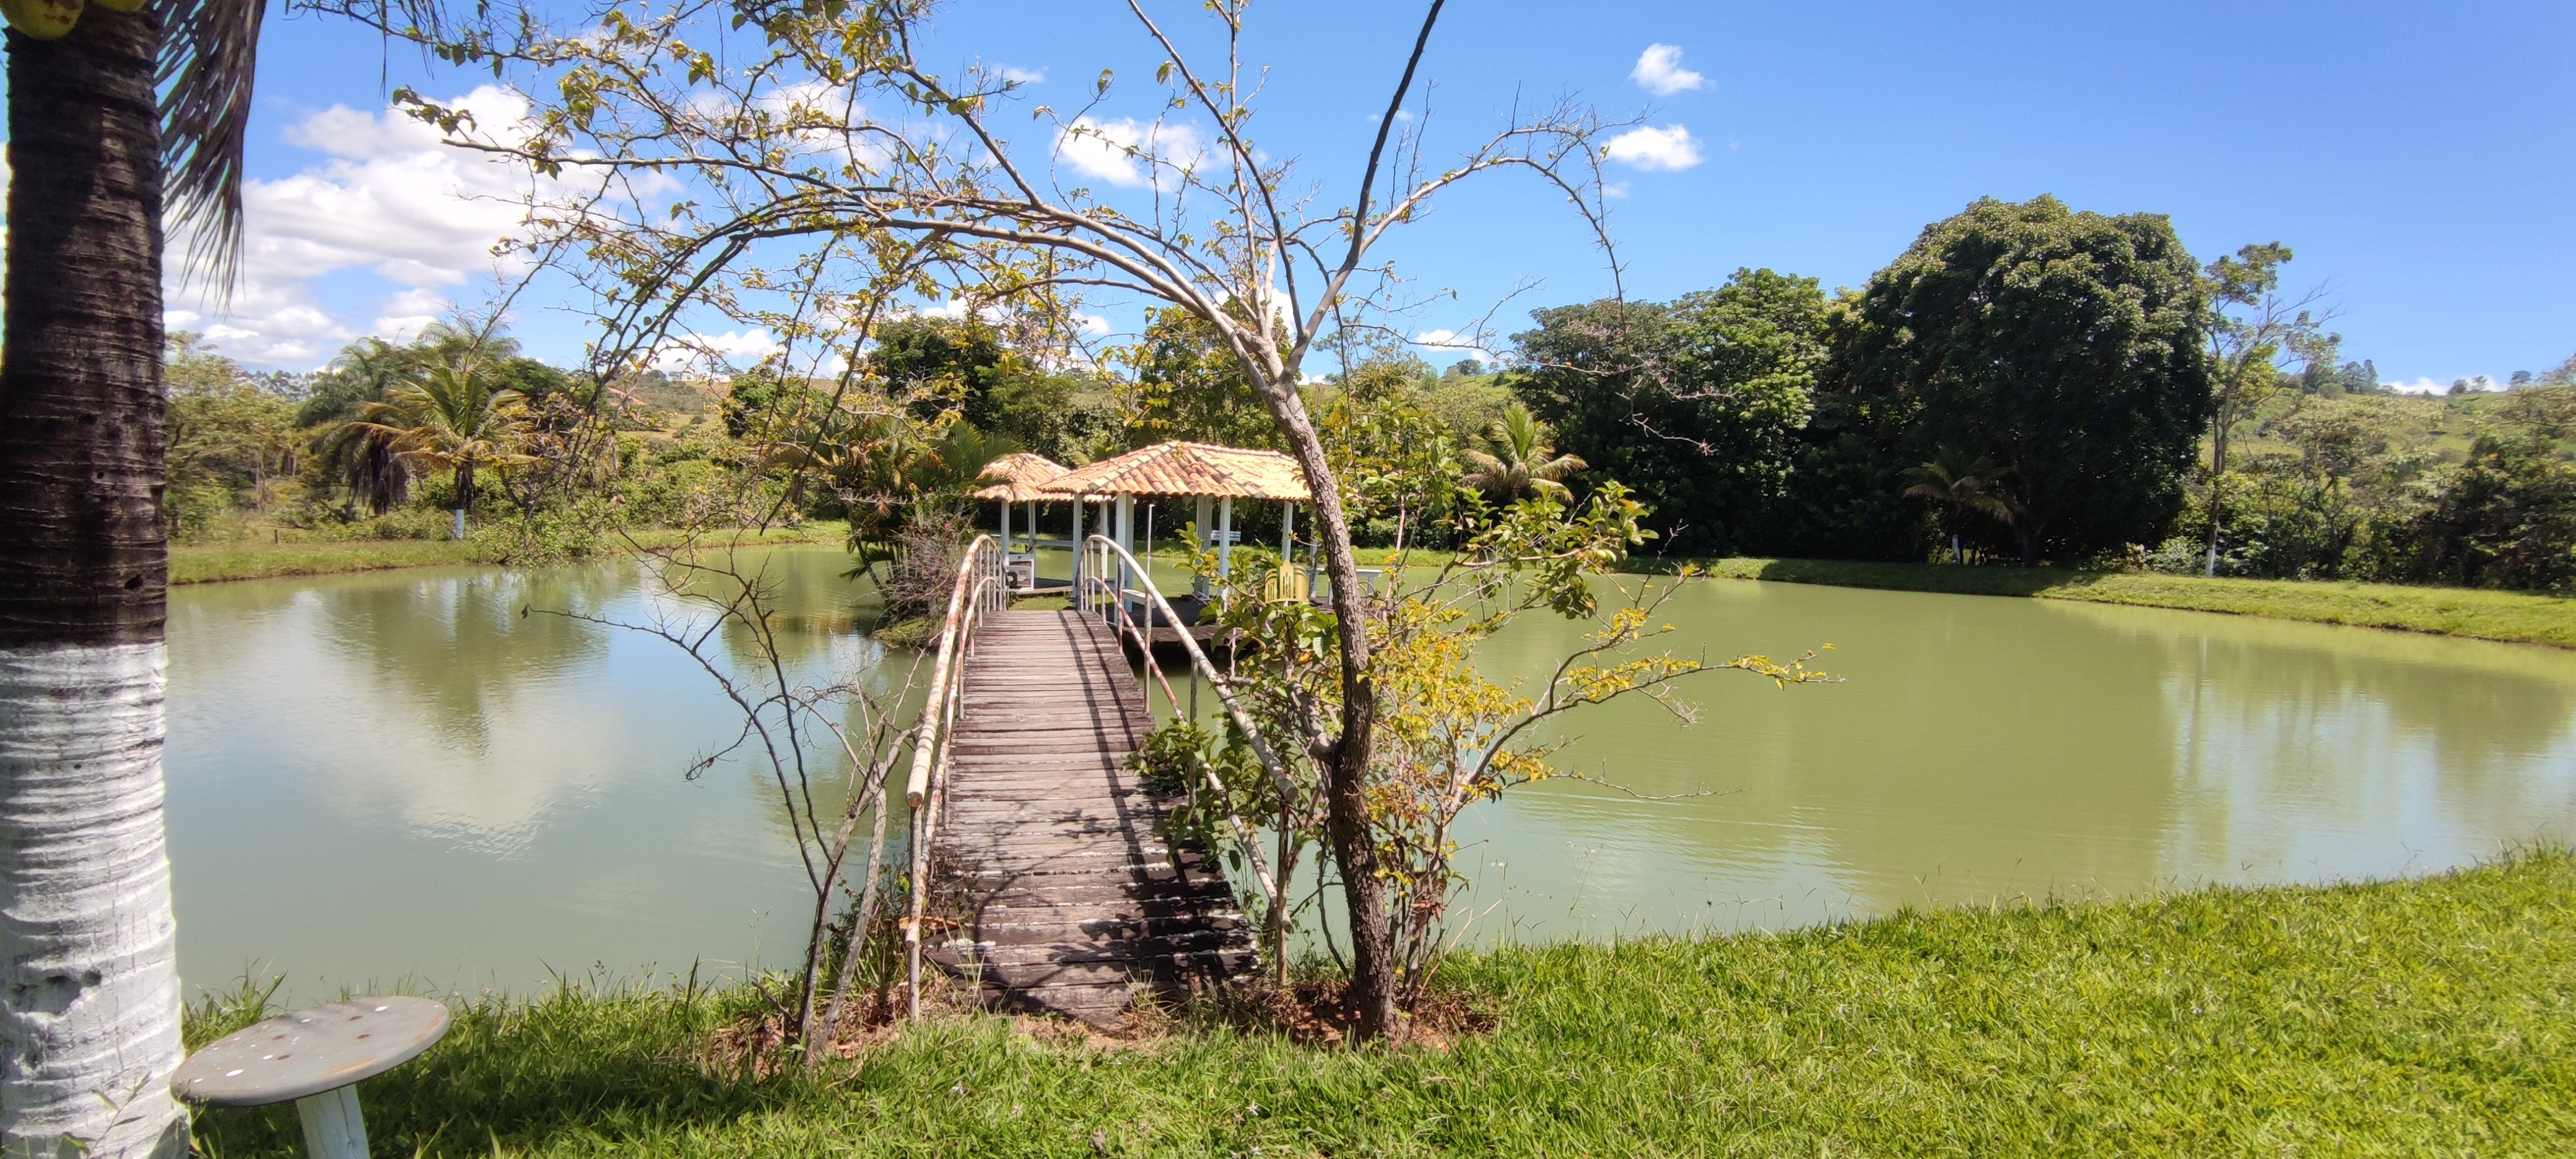
[[[312,1159],[366,1159],[358,1079],[402,1066],[448,1033],[448,1007],[415,997],[348,999],[234,1030],[188,1056],[170,1089],[209,1107],[296,1102]]]

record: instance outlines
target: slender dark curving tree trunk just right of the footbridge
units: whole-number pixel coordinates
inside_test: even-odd
[[[1332,618],[1342,626],[1342,737],[1324,760],[1324,837],[1342,871],[1342,909],[1350,917],[1350,1004],[1360,1015],[1358,1038],[1386,1038],[1396,1025],[1396,956],[1386,932],[1386,881],[1378,878],[1378,840],[1368,822],[1368,757],[1378,726],[1378,688],[1368,677],[1368,621],[1360,610],[1360,567],[1350,554],[1350,520],[1324,458],[1324,440],[1306,417],[1293,384],[1262,391],[1270,417],[1288,435],[1288,453],[1314,492],[1314,531],[1332,577]],[[1280,567],[1288,567],[1283,559]]]

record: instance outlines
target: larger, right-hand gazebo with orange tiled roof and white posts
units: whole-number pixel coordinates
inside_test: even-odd
[[[1291,556],[1296,541],[1296,505],[1311,502],[1306,471],[1278,451],[1247,451],[1213,443],[1154,443],[1090,466],[1077,466],[1043,484],[1038,495],[1074,500],[1074,543],[1082,543],[1082,505],[1113,500],[1108,536],[1118,546],[1136,549],[1136,497],[1190,497],[1198,500],[1200,546],[1216,546],[1218,582],[1234,574],[1234,500],[1270,500],[1280,505],[1280,559]],[[1208,507],[1216,507],[1216,531],[1208,531]],[[1079,559],[1079,551],[1074,554]],[[1079,564],[1077,564],[1079,567]],[[1079,574],[1077,574],[1079,582]],[[1126,587],[1126,577],[1121,577]]]

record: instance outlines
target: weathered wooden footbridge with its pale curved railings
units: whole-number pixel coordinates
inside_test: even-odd
[[[989,1004],[1090,1022],[1255,966],[1224,871],[1162,832],[1175,801],[1128,760],[1154,729],[1126,654],[1149,652],[1151,613],[1131,600],[1162,595],[1128,587],[1141,567],[1108,538],[1077,561],[1072,610],[1007,610],[992,536],[958,567],[907,786],[914,1015],[925,963]]]

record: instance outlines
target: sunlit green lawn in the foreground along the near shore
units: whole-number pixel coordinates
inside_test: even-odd
[[[1445,1051],[958,1017],[729,1079],[737,997],[466,1010],[366,1084],[379,1154],[2568,1154],[2576,860],[2344,889],[1960,909],[1499,950]],[[191,1041],[222,1030],[198,1017]],[[198,1120],[296,1154],[289,1107]]]

